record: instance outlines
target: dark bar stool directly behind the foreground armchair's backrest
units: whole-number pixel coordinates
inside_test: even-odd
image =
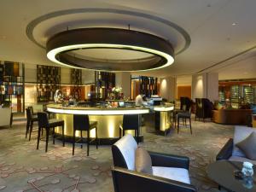
[[[139,137],[140,118],[138,114],[124,114],[123,123],[119,125],[119,137],[121,137],[121,131],[123,136],[126,130],[134,130],[135,137],[138,143]]]

